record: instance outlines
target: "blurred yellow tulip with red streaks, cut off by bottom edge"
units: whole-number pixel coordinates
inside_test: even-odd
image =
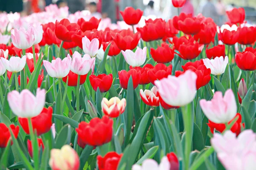
[[[52,170],[79,170],[79,156],[70,145],[52,149],[49,166]]]

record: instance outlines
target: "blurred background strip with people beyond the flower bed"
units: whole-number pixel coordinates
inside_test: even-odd
[[[165,20],[178,14],[172,0],[0,0],[0,12],[19,12],[22,16],[44,11],[45,6],[57,4],[59,8],[68,6],[70,13],[88,10],[97,18],[111,18],[112,22],[122,20],[119,11],[132,6],[144,11],[144,16],[155,16]],[[226,11],[232,8],[245,9],[247,23],[256,23],[256,0],[186,0],[180,9],[184,13],[202,13],[212,17],[215,23],[227,22]]]

